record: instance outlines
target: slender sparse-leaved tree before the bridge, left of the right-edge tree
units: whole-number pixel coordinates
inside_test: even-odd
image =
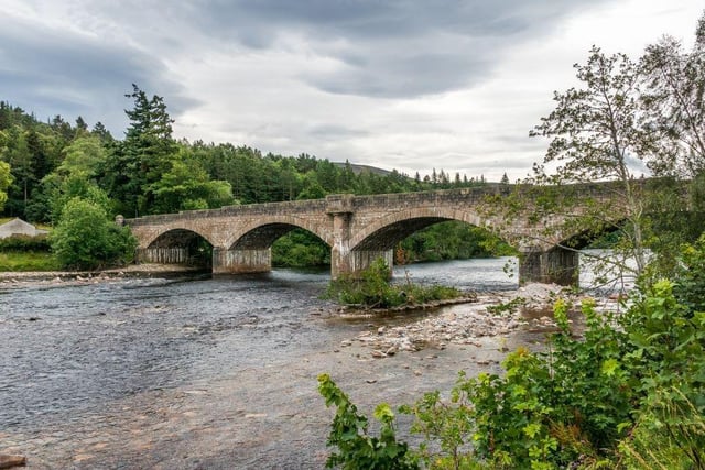
[[[576,64],[575,69],[583,88],[555,92],[556,108],[530,132],[532,136],[551,139],[544,164],[556,165],[553,175],[546,174],[544,165],[534,165],[534,182],[616,182],[618,197],[612,199],[619,201],[619,207],[605,207],[601,201],[586,200],[582,194],[583,205],[592,203],[593,209],[572,223],[597,231],[620,230],[628,255],[636,259],[636,271],[641,273],[647,263],[644,204],[634,173],[644,156],[653,153],[654,139],[640,125],[639,70],[627,55],[607,56],[596,46],[587,63]],[[566,203],[574,205],[575,199]],[[626,225],[609,218],[615,214],[625,214]]]

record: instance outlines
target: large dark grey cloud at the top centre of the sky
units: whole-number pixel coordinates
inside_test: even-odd
[[[254,48],[273,47],[286,33],[303,36],[316,54],[345,64],[302,76],[317,89],[412,98],[480,83],[508,47],[599,1],[212,0],[195,21]]]

